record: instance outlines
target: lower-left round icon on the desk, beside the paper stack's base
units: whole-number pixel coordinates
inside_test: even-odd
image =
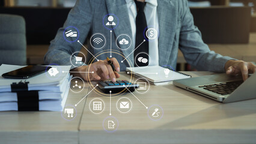
[[[76,118],[76,113],[76,108],[74,106],[66,105],[64,109],[61,111],[61,116],[67,121],[72,121]]]

